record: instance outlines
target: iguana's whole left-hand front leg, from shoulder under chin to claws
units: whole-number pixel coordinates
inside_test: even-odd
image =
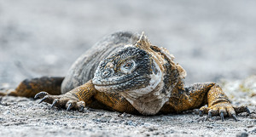
[[[85,106],[90,106],[92,102],[91,99],[95,99],[104,105],[103,109],[139,114],[139,112],[131,106],[131,103],[125,100],[121,95],[97,91],[91,83],[91,80],[77,88],[73,88],[66,94],[50,95],[47,92],[40,92],[35,95],[35,98],[42,99],[39,103],[47,102],[52,104],[51,107],[66,107],[67,111],[70,109],[83,111]]]

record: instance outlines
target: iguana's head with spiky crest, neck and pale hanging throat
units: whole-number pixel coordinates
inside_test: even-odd
[[[166,49],[153,46],[142,34],[136,44],[125,45],[102,60],[92,83],[100,92],[123,95],[141,113],[154,114],[169,99],[177,81],[185,75],[184,71],[178,71],[178,68],[183,69],[174,64],[173,59]],[[153,111],[146,107],[152,107]]]

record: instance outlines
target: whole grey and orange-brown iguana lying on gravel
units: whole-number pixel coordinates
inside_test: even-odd
[[[119,31],[82,54],[65,78],[26,79],[9,95],[34,96],[67,111],[88,106],[155,115],[201,107],[201,115],[220,115],[223,121],[224,116],[237,121],[236,113],[250,112],[247,106],[232,106],[217,83],[185,87],[185,77],[166,49],[151,44],[144,34]]]

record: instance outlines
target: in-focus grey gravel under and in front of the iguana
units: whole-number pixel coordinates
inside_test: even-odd
[[[236,106],[247,105],[235,122],[225,117],[198,116],[198,110],[153,117],[86,109],[83,112],[50,109],[39,100],[5,96],[0,102],[0,136],[256,136],[256,76],[223,81]],[[247,88],[243,88],[247,86]],[[234,92],[235,91],[235,92]]]

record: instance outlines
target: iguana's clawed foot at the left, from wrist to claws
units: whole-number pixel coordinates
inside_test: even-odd
[[[42,99],[39,103],[47,102],[51,104],[51,108],[64,107],[67,108],[67,111],[74,109],[83,111],[85,107],[84,101],[77,99],[73,94],[61,94],[61,95],[50,95],[47,92],[40,92],[35,95],[35,99]]]

